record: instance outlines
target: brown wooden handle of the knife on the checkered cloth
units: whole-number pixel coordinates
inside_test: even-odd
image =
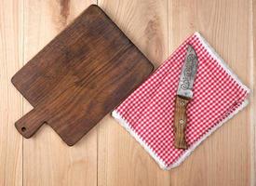
[[[187,149],[185,130],[187,126],[186,107],[189,100],[177,96],[174,113],[174,146],[178,149]]]

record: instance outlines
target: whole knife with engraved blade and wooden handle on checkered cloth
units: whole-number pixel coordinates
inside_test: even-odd
[[[193,84],[195,81],[198,58],[193,46],[188,45],[186,57],[182,66],[174,113],[174,146],[177,149],[187,149],[185,130],[187,126],[186,108],[193,98]]]

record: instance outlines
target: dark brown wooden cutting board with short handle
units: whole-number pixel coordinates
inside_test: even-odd
[[[90,6],[13,76],[34,106],[15,126],[30,138],[47,123],[74,145],[153,69],[101,8]]]

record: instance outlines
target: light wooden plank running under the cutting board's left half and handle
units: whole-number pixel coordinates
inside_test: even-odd
[[[24,61],[43,46],[93,1],[24,1]],[[24,100],[24,113],[31,106]],[[43,126],[23,144],[24,185],[96,185],[97,131],[68,147],[49,127]]]

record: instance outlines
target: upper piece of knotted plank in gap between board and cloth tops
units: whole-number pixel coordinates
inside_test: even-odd
[[[98,5],[156,66],[166,60],[166,0],[99,0]]]

